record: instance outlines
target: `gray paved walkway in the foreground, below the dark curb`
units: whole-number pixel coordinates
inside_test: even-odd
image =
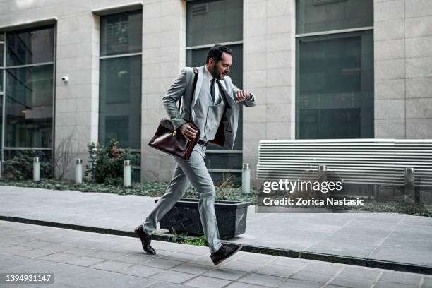
[[[207,247],[0,221],[1,273],[54,273],[51,288],[432,287],[432,276],[239,252],[215,267]]]

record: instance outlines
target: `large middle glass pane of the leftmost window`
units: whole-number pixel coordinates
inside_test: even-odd
[[[6,70],[8,147],[52,148],[53,66]]]

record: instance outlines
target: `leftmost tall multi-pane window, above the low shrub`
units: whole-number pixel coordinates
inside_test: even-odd
[[[0,35],[3,157],[8,160],[20,150],[32,148],[43,150],[44,160],[49,161],[53,147],[54,25]]]

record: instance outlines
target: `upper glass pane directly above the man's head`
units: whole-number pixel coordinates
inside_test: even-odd
[[[186,46],[243,40],[243,0],[186,4]]]

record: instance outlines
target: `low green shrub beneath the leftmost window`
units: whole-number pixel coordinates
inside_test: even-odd
[[[18,155],[4,163],[4,175],[13,180],[28,180],[33,178],[33,158],[44,157],[44,152],[35,150],[19,150]],[[40,177],[51,178],[52,167],[47,162],[40,162]]]

